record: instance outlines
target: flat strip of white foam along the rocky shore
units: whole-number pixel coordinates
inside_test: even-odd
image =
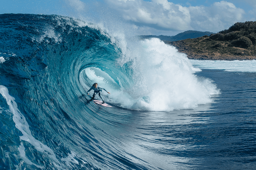
[[[223,69],[230,72],[256,72],[256,60],[190,60],[194,67],[200,69]]]

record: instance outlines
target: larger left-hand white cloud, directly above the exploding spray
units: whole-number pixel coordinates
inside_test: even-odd
[[[124,19],[138,24],[151,24],[169,30],[191,29],[188,8],[175,5],[167,0],[153,0],[152,2],[109,0],[109,3],[113,8],[121,11]]]

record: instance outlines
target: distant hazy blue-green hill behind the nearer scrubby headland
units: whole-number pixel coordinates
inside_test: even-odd
[[[140,38],[159,38],[162,41],[179,41],[179,40],[185,40],[187,38],[198,38],[204,35],[211,35],[211,34],[215,34],[213,32],[201,32],[201,31],[185,31],[182,33],[179,33],[177,35],[174,36],[167,36],[167,35],[140,35]]]

